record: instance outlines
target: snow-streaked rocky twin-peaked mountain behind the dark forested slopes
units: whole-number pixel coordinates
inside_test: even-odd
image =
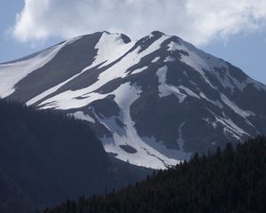
[[[0,65],[0,96],[90,122],[107,152],[164,169],[266,134],[266,86],[177,36],[96,33]]]

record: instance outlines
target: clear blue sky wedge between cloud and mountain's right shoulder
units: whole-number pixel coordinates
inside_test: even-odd
[[[266,84],[266,30],[249,35],[231,36],[228,41],[214,41],[201,48],[229,61],[247,75]]]

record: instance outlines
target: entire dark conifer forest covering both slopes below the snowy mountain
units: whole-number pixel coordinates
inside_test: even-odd
[[[1,213],[265,212],[265,137],[134,184],[150,171],[113,160],[86,122],[4,99],[0,116]]]

